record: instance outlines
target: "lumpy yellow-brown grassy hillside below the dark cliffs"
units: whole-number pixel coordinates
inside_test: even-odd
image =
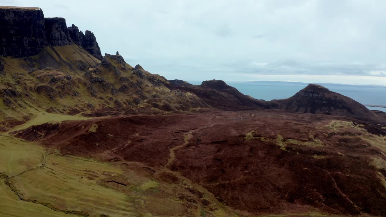
[[[170,91],[164,85],[168,81],[159,75],[140,69],[143,78],[138,76],[132,66],[115,57],[107,58],[110,66],[98,65],[98,59],[76,45],[46,47],[28,58],[0,57],[5,73],[0,75],[0,127],[10,129],[44,111],[75,115],[130,109],[131,113],[159,114],[207,106],[191,93]],[[70,80],[65,78],[68,75]],[[92,77],[104,81],[92,83]],[[117,91],[121,85],[128,88]],[[5,95],[5,90],[18,95]]]

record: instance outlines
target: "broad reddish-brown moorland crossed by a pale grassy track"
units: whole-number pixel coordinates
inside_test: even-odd
[[[385,129],[344,116],[283,110],[119,115],[13,134],[63,154],[177,172],[242,215],[386,215]]]

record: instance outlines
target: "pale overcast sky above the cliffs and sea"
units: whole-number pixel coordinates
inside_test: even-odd
[[[386,85],[384,0],[0,0],[92,31],[104,53],[187,81]]]

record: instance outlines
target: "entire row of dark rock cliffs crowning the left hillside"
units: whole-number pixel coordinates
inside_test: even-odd
[[[94,34],[74,27],[67,28],[64,18],[44,18],[41,8],[0,6],[0,56],[33,56],[46,46],[75,43],[102,59]]]

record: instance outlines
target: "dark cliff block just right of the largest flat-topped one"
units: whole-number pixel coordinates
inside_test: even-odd
[[[73,44],[66,25],[66,19],[59,17],[46,18],[44,19],[44,25],[46,27],[46,39],[50,46]]]

